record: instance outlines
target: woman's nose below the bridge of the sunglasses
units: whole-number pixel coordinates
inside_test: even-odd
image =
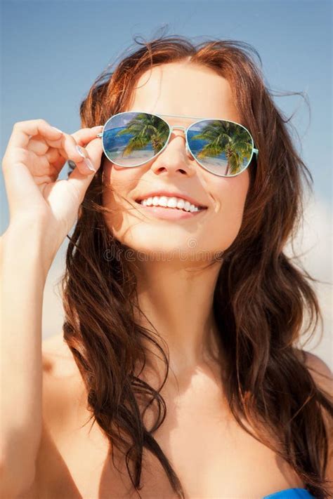
[[[189,177],[195,175],[195,165],[186,144],[184,129],[177,132],[171,131],[168,144],[161,154],[157,156],[151,168],[156,174],[164,172],[188,175]]]

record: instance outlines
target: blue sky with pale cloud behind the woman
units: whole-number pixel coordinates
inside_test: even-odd
[[[1,157],[16,121],[44,118],[66,133],[74,133],[80,124],[81,100],[105,66],[133,44],[133,36],[150,39],[167,25],[167,35],[188,36],[195,42],[214,37],[254,46],[273,93],[303,92],[308,96],[311,114],[299,95],[275,96],[274,100],[287,116],[296,112],[292,124],[301,138],[297,149],[313,173],[319,201],[309,226],[318,227],[322,246],[315,243],[317,253],[312,253],[308,267],[330,280],[332,1],[12,0],[0,1],[0,5]],[[67,164],[60,178],[66,173]],[[8,225],[2,176],[0,195],[2,233]],[[331,296],[325,293],[324,301]],[[50,312],[53,298],[50,300],[46,296],[44,318],[53,327],[56,321]],[[328,345],[332,352],[332,342]],[[322,357],[325,355],[327,347],[322,349]]]

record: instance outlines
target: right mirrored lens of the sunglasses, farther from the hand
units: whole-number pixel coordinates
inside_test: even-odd
[[[188,145],[195,159],[216,175],[241,173],[252,157],[252,137],[233,121],[203,120],[188,130]]]

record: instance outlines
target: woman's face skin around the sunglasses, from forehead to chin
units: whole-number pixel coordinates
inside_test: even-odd
[[[159,65],[145,72],[124,111],[221,118],[242,124],[228,81],[209,68],[188,62]],[[185,127],[197,121],[164,119],[171,126]],[[185,258],[189,251],[202,251],[207,259],[233,243],[242,222],[248,170],[233,178],[204,170],[186,151],[181,129],[171,133],[169,144],[147,164],[124,168],[104,161],[103,204],[115,210],[105,215],[105,220],[126,246],[150,258],[155,252]],[[160,190],[186,194],[207,209],[189,218],[165,220],[136,203]]]

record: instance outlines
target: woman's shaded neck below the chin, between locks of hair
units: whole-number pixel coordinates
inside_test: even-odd
[[[170,368],[177,376],[208,364],[218,354],[213,299],[221,262],[204,266],[207,262],[189,268],[178,260],[138,265],[140,322],[151,330],[150,321],[166,342],[166,349],[163,342],[161,346],[166,354],[169,350]],[[147,346],[152,349],[150,342]],[[153,364],[158,363],[155,357]]]

